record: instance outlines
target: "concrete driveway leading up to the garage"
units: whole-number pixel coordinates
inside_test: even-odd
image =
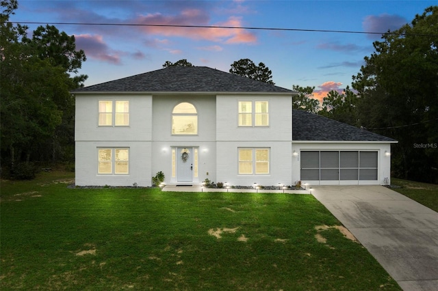
[[[438,290],[438,213],[384,186],[313,186],[403,290]]]

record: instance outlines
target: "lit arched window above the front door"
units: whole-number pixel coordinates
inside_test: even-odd
[[[198,113],[188,102],[181,102],[172,111],[172,135],[197,135]]]

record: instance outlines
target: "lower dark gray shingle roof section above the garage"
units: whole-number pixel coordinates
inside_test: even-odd
[[[292,111],[292,141],[396,140],[302,110]]]

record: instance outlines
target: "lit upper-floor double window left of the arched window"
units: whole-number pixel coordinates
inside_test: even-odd
[[[99,100],[99,126],[129,126],[129,101]]]

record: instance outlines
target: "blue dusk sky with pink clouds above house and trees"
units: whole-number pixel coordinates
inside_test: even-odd
[[[385,32],[411,23],[436,1],[44,1],[18,0],[19,23],[115,23]],[[29,25],[34,30],[38,25]],[[105,25],[55,25],[86,52],[81,74],[93,85],[188,59],[228,72],[248,58],[276,85],[315,87],[322,98],[352,82],[380,36],[367,33]]]

